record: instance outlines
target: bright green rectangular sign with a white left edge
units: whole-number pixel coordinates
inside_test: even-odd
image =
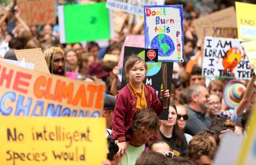
[[[111,38],[109,10],[105,3],[58,6],[60,43]]]

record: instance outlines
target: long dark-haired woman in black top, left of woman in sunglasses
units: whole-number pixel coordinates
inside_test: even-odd
[[[183,155],[187,149],[187,141],[184,133],[178,128],[176,106],[170,103],[168,120],[160,120],[160,137],[167,142],[175,156]]]

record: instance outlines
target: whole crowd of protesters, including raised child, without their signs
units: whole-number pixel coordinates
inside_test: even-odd
[[[234,5],[233,1],[213,2],[211,12]],[[1,11],[0,55],[17,60],[14,50],[41,48],[50,73],[105,84],[103,115],[109,153],[103,164],[213,164],[224,133],[246,135],[256,99],[256,76],[252,72],[250,81],[233,81],[246,88],[239,93],[236,106],[229,106],[224,98],[232,94],[224,91],[229,80],[206,83],[202,76],[202,41],[191,25],[200,12],[189,1],[165,1],[165,5],[174,4],[184,5],[185,60],[174,64],[171,89],[161,91],[161,97],[170,99],[167,121],[158,120],[162,98],[143,83],[145,61],[136,56],[127,60],[123,66],[127,85],[120,88],[118,61],[123,41],[129,34],[144,34],[143,28],[128,23],[129,17],[106,48],[97,42],[60,44],[58,24],[28,26],[12,1]]]

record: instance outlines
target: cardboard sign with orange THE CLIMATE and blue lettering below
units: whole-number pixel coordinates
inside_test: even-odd
[[[0,115],[100,117],[103,84],[31,72],[0,61]]]

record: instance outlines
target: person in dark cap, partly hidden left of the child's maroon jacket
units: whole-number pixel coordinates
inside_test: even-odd
[[[112,95],[105,95],[103,106],[103,117],[106,118],[107,137],[111,135],[111,122],[114,115],[114,106],[116,106],[116,97]]]

